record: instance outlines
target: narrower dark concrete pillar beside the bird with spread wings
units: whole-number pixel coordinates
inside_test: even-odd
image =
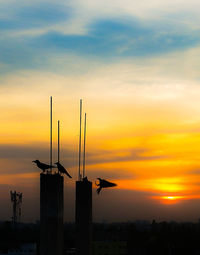
[[[92,182],[76,182],[76,254],[92,255]]]

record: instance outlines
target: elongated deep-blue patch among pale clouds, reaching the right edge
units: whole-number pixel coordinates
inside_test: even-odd
[[[100,58],[151,56],[193,47],[200,42],[196,32],[165,33],[138,22],[123,24],[101,21],[93,24],[88,35],[48,33],[33,40],[37,47],[66,50]]]

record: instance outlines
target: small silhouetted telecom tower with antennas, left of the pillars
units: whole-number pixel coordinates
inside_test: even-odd
[[[21,220],[22,193],[10,191],[10,198],[12,203],[12,222],[16,226]]]

